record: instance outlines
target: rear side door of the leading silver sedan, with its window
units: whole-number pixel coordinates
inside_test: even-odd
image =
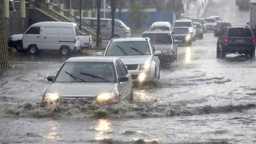
[[[121,68],[122,71],[122,76],[127,76],[128,77],[128,81],[124,82],[124,90],[123,90],[123,96],[128,96],[128,94],[130,94],[131,90],[132,90],[132,79],[131,79],[131,74],[127,71],[125,65],[121,62],[118,61],[118,64]]]

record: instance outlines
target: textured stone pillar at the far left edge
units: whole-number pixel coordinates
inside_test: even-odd
[[[6,69],[9,66],[5,28],[4,7],[0,4],[0,69]]]

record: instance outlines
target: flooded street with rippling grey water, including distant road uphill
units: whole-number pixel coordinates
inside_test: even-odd
[[[209,0],[202,17],[210,15],[232,25],[249,21],[235,0]],[[177,63],[135,89],[134,101],[110,104],[41,103],[46,76],[68,57],[11,52],[11,68],[0,75],[0,143],[256,143],[256,59],[217,59],[216,40],[207,32],[178,47]]]

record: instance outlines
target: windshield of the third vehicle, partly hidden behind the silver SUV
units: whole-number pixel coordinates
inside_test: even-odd
[[[170,33],[143,33],[142,37],[149,37],[153,44],[173,43]]]

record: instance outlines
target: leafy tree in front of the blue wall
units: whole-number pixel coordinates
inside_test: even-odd
[[[131,0],[128,19],[135,29],[141,28],[141,23],[149,20],[149,15],[143,10],[145,10],[145,6],[142,3],[139,3],[136,0]]]

